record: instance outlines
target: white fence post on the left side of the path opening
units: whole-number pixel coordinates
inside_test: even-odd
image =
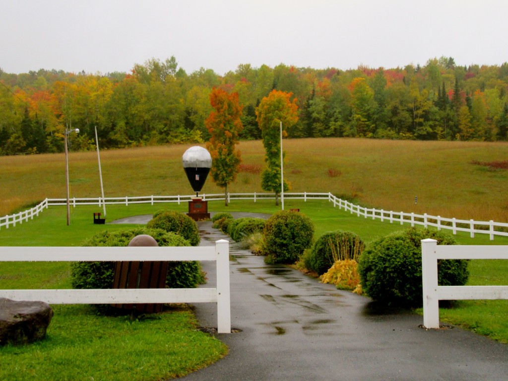
[[[217,255],[217,332],[231,333],[231,301],[229,285],[229,242],[215,242]]]

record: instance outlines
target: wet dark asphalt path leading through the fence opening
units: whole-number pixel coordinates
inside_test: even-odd
[[[228,239],[199,223],[202,245]],[[460,328],[425,330],[423,317],[379,310],[369,298],[336,290],[297,270],[266,265],[230,246],[231,322],[216,335],[223,360],[185,380],[468,380],[508,379],[508,345]],[[208,285],[214,263],[203,262]],[[195,305],[216,327],[213,303]]]

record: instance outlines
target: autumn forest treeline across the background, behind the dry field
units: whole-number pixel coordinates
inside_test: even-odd
[[[368,137],[507,140],[508,62],[458,66],[452,57],[396,69],[351,70],[239,65],[190,74],[175,57],[149,59],[130,73],[0,69],[0,154],[201,143],[214,87],[238,92],[241,139],[260,139],[256,107],[273,89],[293,93],[298,122],[290,138]]]

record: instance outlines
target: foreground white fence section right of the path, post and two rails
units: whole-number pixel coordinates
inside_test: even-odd
[[[423,325],[439,328],[439,300],[508,299],[508,285],[440,286],[438,259],[508,259],[508,246],[437,245],[422,240]]]

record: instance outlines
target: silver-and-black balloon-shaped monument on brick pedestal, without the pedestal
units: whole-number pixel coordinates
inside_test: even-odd
[[[183,169],[196,196],[205,184],[206,177],[212,168],[212,156],[206,148],[194,146],[187,149],[182,156]]]

